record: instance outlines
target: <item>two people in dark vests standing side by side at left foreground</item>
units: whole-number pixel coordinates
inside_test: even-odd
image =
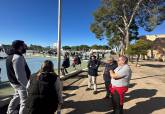
[[[44,61],[40,70],[31,75],[23,56],[26,49],[24,41],[16,40],[7,52],[7,76],[15,91],[7,114],[54,114],[63,103],[60,78],[50,60]]]

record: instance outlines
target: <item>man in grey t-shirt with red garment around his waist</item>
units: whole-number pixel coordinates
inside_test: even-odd
[[[123,114],[124,94],[128,91],[129,81],[132,71],[128,66],[128,58],[120,56],[118,67],[113,71],[110,69],[111,83],[110,91],[112,94],[112,105],[114,114]]]

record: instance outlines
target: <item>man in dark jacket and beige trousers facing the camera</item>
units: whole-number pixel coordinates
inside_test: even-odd
[[[97,94],[97,83],[96,83],[96,78],[98,76],[98,67],[99,67],[99,62],[96,59],[96,56],[92,56],[91,60],[88,62],[88,88],[86,89],[91,90],[91,85],[93,83],[94,85],[94,92],[93,94]]]

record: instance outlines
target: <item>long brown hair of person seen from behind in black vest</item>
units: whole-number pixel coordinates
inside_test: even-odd
[[[50,60],[45,60],[44,63],[41,66],[41,69],[37,72],[37,79],[42,75],[42,73],[51,73],[55,76],[57,74],[54,72],[54,65],[53,62]]]

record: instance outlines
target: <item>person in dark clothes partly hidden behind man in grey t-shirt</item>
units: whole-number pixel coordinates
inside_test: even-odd
[[[109,85],[111,84],[111,76],[110,76],[110,69],[114,70],[117,68],[117,62],[114,60],[113,57],[109,57],[107,62],[105,63],[105,68],[103,71],[103,79],[106,88],[106,96],[104,98],[110,97]]]

